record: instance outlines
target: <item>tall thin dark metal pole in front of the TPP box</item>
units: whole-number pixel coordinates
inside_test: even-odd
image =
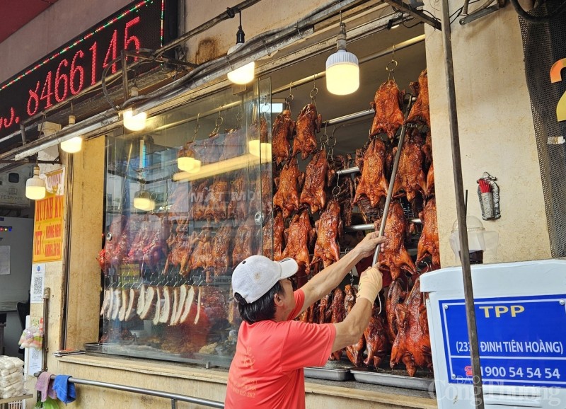
[[[452,58],[452,38],[448,0],[442,0],[442,35],[446,62],[444,69],[446,74],[446,88],[448,90],[452,168],[454,169],[456,212],[458,214],[458,234],[460,236],[460,260],[462,261],[464,298],[466,299],[466,320],[468,322],[468,338],[470,340],[470,355],[473,367],[473,394],[475,398],[475,408],[483,409],[482,372],[480,367],[480,351],[478,349],[478,329],[475,326],[472,272],[470,268],[470,253],[468,248],[468,226],[466,225],[466,209],[464,208],[460,134],[458,133],[458,113],[456,110],[456,87],[454,85],[454,61]]]

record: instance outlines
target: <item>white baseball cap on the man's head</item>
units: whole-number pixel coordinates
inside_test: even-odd
[[[299,269],[292,258],[272,261],[264,255],[250,255],[232,273],[232,293],[240,294],[248,304],[258,301],[279,280],[291,277]]]

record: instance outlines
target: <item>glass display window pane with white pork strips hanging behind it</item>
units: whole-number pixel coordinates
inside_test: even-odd
[[[272,256],[270,80],[108,137],[98,352],[228,367],[231,272]]]

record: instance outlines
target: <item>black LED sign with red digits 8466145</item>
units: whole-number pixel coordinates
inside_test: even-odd
[[[176,13],[177,0],[134,1],[0,84],[0,137],[16,132],[28,117],[96,84],[121,50],[156,50],[171,40],[176,35]],[[119,68],[112,64],[108,72]]]

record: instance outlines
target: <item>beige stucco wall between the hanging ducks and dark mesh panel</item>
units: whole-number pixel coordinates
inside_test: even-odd
[[[425,4],[431,13],[441,17]],[[461,6],[451,1],[451,13]],[[473,11],[473,6],[470,6]],[[444,75],[442,33],[425,28],[429,77],[434,178],[441,264],[456,265],[449,234],[456,199]],[[497,177],[501,219],[483,221],[499,233],[497,256],[486,263],[550,258],[541,171],[525,82],[519,21],[512,6],[467,25],[452,24],[454,78],[468,214],[481,220],[476,180]]]

